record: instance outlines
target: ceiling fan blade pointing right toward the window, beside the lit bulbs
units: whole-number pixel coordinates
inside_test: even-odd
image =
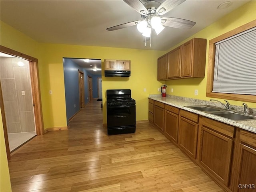
[[[190,29],[196,24],[196,22],[190,20],[173,17],[162,17],[161,20],[162,25],[179,29]]]

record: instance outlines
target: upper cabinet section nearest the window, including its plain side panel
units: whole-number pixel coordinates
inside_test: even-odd
[[[204,77],[206,39],[193,38],[182,45],[182,78]]]

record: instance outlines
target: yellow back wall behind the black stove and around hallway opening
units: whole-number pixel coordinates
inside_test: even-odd
[[[157,78],[157,58],[163,51],[109,48],[96,46],[76,46],[64,44],[42,44],[44,61],[44,73],[42,79],[47,81],[42,95],[48,101],[46,127],[66,126],[66,108],[63,74],[63,57],[70,58],[97,58],[131,60],[131,76],[129,78],[105,77],[102,70],[103,92],[103,123],[106,123],[106,90],[107,89],[131,89],[132,98],[136,100],[136,120],[148,119],[148,95],[159,94],[157,88],[161,83]],[[47,70],[46,70],[47,69]],[[146,92],[143,89],[146,88]],[[47,91],[46,91],[47,90]],[[48,94],[52,90],[52,95]]]

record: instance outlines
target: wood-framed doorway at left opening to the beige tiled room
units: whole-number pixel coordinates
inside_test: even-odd
[[[1,113],[9,160],[10,152],[44,134],[44,125],[38,60],[4,46],[0,48]]]

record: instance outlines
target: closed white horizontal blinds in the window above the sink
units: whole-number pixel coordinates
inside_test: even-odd
[[[256,95],[256,27],[215,44],[212,92]]]

